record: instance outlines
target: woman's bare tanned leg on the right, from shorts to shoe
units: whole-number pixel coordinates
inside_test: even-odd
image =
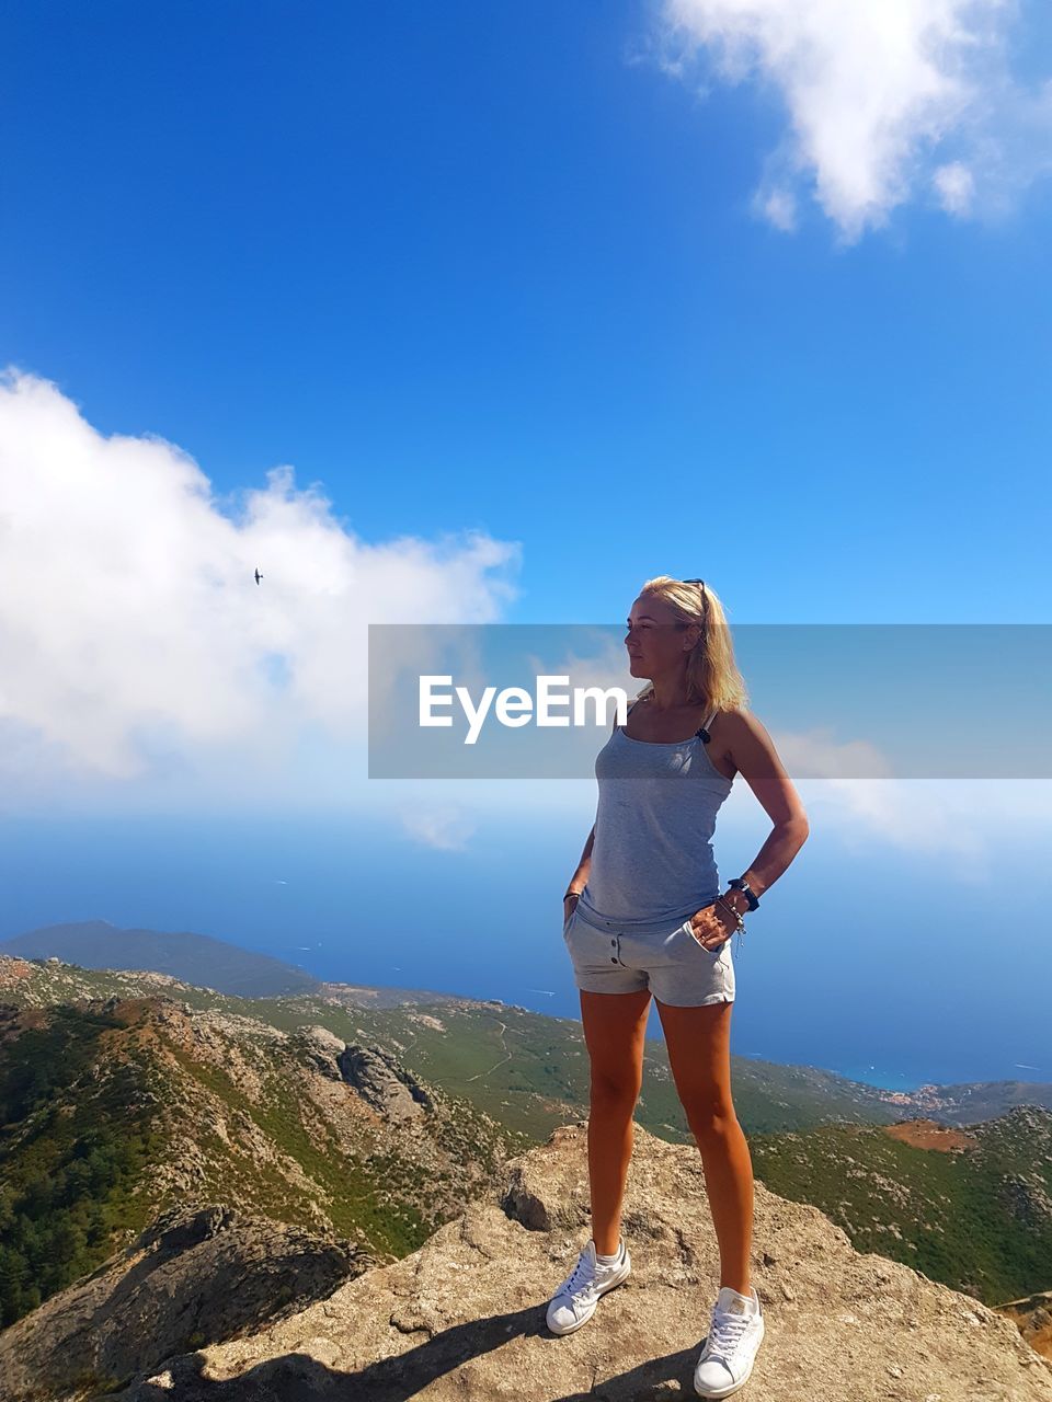
[[[676,1091],[701,1151],[720,1242],[720,1284],[748,1295],[753,1176],[749,1144],[731,1099],[732,1008],[734,1002],[675,1008],[658,1001],[658,1016]]]

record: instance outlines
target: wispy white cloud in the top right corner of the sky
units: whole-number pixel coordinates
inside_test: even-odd
[[[1004,212],[1052,170],[1052,86],[1013,77],[1018,0],[663,0],[663,72],[703,56],[777,94],[787,132],[755,205],[795,227],[811,186],[842,237],[934,188],[947,212]]]

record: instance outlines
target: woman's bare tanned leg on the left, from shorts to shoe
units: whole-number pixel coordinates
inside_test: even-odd
[[[651,993],[581,991],[581,1021],[592,1063],[588,1176],[592,1239],[600,1256],[617,1251],[621,1203],[633,1154],[635,1102],[642,1087],[642,1047]]]

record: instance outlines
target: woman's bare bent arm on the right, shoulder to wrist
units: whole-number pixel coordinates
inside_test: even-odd
[[[778,758],[774,742],[749,711],[725,711],[727,754],[763,805],[771,823],[767,841],[742,876],[755,896],[774,885],[808,840],[811,826],[793,780]],[[741,892],[735,904],[745,906]]]

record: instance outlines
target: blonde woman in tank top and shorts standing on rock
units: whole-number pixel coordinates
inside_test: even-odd
[[[808,820],[770,736],[745,708],[724,608],[704,580],[647,580],[626,648],[631,674],[651,680],[596,757],[596,822],[564,899],[592,1073],[592,1239],[547,1322],[555,1333],[579,1329],[631,1270],[621,1202],[654,994],[720,1242],[720,1294],[694,1388],[724,1398],[749,1377],[764,1328],[749,1281],[752,1161],[731,1099],[729,937],[804,845]],[[711,836],[736,774],[774,826],[721,892]]]

